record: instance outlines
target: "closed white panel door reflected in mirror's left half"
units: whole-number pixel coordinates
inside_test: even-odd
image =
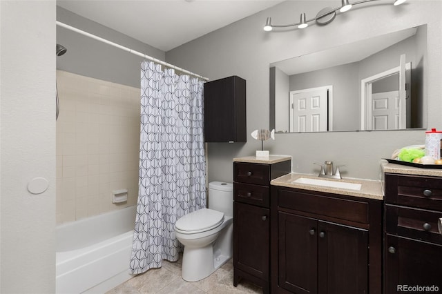
[[[290,92],[290,132],[327,131],[327,87]]]

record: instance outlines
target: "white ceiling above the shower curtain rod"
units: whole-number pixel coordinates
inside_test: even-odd
[[[280,0],[57,0],[57,6],[169,51]],[[265,19],[262,19],[264,26]]]

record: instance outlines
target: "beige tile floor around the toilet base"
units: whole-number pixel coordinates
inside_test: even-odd
[[[242,280],[233,286],[233,261],[218,268],[215,273],[198,282],[186,282],[181,277],[181,257],[177,262],[163,261],[161,268],[152,268],[131,280],[113,288],[106,294],[144,294],[144,293],[262,293],[262,289]]]

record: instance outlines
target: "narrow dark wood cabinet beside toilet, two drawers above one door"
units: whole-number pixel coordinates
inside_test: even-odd
[[[233,162],[234,286],[245,279],[264,293],[270,291],[270,181],[290,171],[290,159],[269,164]]]

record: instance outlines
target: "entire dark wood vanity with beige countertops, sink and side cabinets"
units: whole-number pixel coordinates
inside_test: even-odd
[[[289,157],[233,161],[235,286],[246,279],[264,293],[442,290],[442,169],[383,164],[382,182],[322,186],[315,175],[290,173]]]

